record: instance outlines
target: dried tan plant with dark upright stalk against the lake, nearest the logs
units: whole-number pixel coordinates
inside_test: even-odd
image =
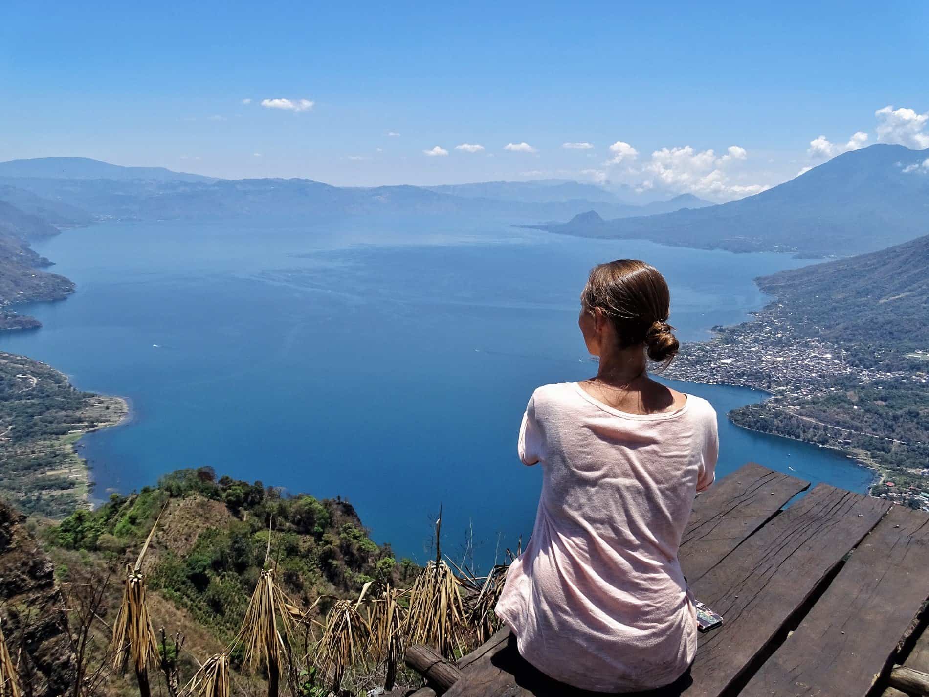
[[[461,583],[441,559],[439,533],[442,517],[436,520],[436,559],[426,564],[410,591],[410,612],[403,634],[411,644],[433,647],[443,656],[464,651],[467,620],[461,596]]]

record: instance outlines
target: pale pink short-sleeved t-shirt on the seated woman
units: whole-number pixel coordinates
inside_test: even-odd
[[[496,607],[530,664],[601,692],[661,687],[687,670],[697,620],[677,548],[717,452],[716,413],[700,397],[640,415],[577,383],[532,393],[518,453],[542,463],[542,497]]]

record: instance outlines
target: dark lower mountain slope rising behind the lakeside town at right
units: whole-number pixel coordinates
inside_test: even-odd
[[[929,350],[929,235],[757,280],[798,332],[898,350]]]

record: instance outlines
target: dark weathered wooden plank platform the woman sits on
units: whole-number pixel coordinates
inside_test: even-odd
[[[725,624],[700,636],[689,676],[661,694],[864,697],[881,694],[908,653],[897,687],[929,672],[918,620],[929,597],[929,515],[826,484],[783,509],[807,488],[750,464],[697,499],[679,558],[695,596]],[[593,694],[534,670],[505,630],[457,667],[447,697]]]

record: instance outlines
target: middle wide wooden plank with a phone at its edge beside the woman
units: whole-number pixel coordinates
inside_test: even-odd
[[[844,555],[890,504],[819,484],[706,572],[694,594],[725,618],[700,637],[688,695],[714,697],[753,668]]]

